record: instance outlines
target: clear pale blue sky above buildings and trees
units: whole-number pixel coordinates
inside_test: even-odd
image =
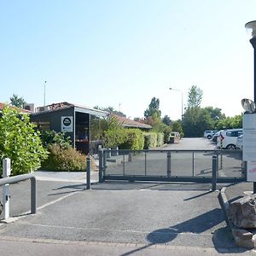
[[[180,119],[201,107],[240,114],[253,99],[254,0],[0,0],[0,102],[71,102],[143,117],[153,97]],[[176,90],[169,90],[172,87]]]

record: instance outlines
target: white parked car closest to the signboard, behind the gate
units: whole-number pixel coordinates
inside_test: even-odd
[[[217,139],[217,147],[226,149],[236,149],[236,139],[241,134],[241,128],[221,131]]]

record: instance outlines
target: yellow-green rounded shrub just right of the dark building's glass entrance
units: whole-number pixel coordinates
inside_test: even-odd
[[[113,116],[108,119],[108,130],[104,131],[103,140],[107,148],[125,143],[125,128]]]

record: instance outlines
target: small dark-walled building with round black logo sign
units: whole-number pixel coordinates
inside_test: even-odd
[[[108,112],[87,108],[68,102],[54,103],[39,107],[38,112],[31,114],[31,120],[40,131],[54,130],[65,132],[71,138],[73,148],[84,154],[93,154],[96,151],[99,137],[91,132],[91,120],[96,127],[100,125],[99,119],[108,117]]]

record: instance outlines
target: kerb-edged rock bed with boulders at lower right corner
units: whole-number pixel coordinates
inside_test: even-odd
[[[218,194],[218,201],[224,212],[227,225],[238,247],[256,247],[256,195],[246,195],[236,201],[228,201],[225,189]]]

